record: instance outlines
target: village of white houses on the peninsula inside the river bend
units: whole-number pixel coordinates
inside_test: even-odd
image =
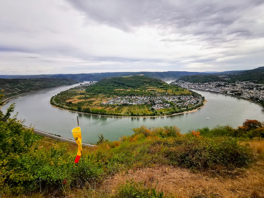
[[[115,97],[110,100],[102,102],[104,105],[139,105],[151,104],[151,108],[155,110],[170,108],[171,104],[178,107],[185,107],[188,105],[194,106],[202,99],[194,96],[157,96],[157,97],[141,97],[141,96],[125,96]]]

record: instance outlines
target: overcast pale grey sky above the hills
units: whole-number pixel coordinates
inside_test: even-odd
[[[0,0],[0,74],[264,66],[264,0]]]

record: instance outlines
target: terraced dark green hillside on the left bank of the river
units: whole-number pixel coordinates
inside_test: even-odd
[[[75,84],[78,81],[72,79],[1,79],[0,90],[4,90],[5,98],[13,97],[41,89]]]

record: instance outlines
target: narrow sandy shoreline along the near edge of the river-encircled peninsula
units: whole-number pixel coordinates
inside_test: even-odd
[[[69,109],[63,109],[63,108],[54,106],[52,104],[51,104],[51,106],[53,106],[55,108],[58,108],[58,109],[63,109],[65,111],[71,111],[71,112],[75,112],[75,113],[88,114],[88,115],[94,115],[94,116],[108,116],[108,117],[119,117],[119,118],[157,118],[157,117],[168,117],[168,116],[175,116],[175,115],[179,115],[179,114],[192,113],[192,112],[198,111],[198,109],[204,107],[205,103],[207,103],[206,99],[204,99],[203,106],[199,106],[197,109],[193,109],[191,111],[184,111],[184,112],[181,112],[181,113],[176,113],[176,114],[171,114],[171,115],[163,115],[163,116],[162,115],[159,115],[159,116],[112,116],[112,115],[99,115],[99,114],[90,114],[90,113],[84,113],[84,112],[79,112],[79,111],[72,111],[72,110],[69,110]]]

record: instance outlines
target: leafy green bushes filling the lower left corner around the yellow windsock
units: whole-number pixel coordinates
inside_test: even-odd
[[[0,192],[52,192],[63,185],[76,187],[101,178],[102,164],[90,155],[75,164],[76,153],[69,152],[65,143],[39,148],[41,136],[24,128],[16,116],[10,118],[13,109],[11,105],[5,115],[0,115]]]

